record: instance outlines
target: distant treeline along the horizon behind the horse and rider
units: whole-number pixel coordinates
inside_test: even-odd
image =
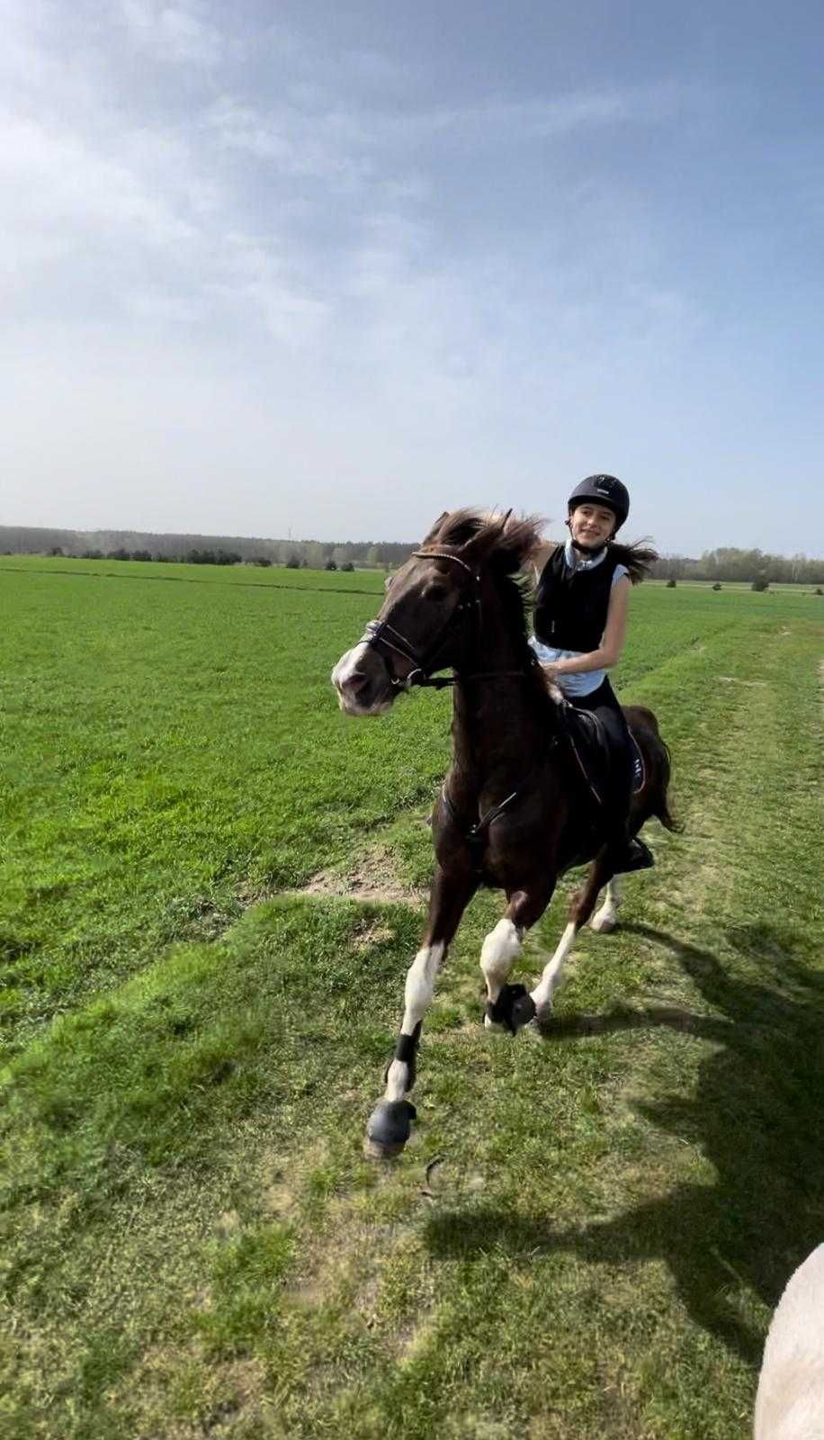
[[[0,554],[62,554],[78,560],[179,560],[189,564],[281,564],[291,569],[393,569],[415,543],[388,540],[255,540],[248,536],[156,536],[138,530],[42,530],[0,526]],[[670,554],[653,575],[663,580],[753,580],[823,585],[824,559],[763,550],[704,550],[700,559]]]

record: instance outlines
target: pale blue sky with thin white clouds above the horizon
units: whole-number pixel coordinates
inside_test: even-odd
[[[824,554],[818,0],[0,13],[0,523]]]

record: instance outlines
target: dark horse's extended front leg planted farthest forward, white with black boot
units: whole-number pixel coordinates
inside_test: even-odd
[[[424,943],[406,972],[403,1020],[395,1058],[386,1070],[386,1092],[366,1125],[366,1153],[376,1159],[399,1155],[412,1132],[415,1106],[406,1099],[416,1076],[421,1025],[435,991],[435,979],[461,916],[478,888],[477,877],[436,867],[429,896]]]

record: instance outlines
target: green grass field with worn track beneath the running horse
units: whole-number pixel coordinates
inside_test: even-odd
[[[824,602],[634,596],[684,831],[545,1043],[478,1022],[475,900],[385,1168],[449,701],[337,711],[380,592],[0,559],[3,1436],[749,1433],[824,1230]]]

